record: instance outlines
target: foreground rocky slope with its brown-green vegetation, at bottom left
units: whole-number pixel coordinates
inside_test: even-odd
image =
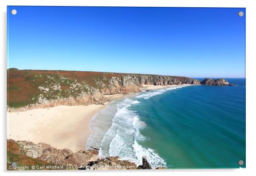
[[[69,149],[57,149],[46,143],[32,143],[29,141],[7,140],[7,169],[12,162],[17,165],[37,165],[47,169],[43,165],[60,165],[65,169],[136,169],[134,162],[119,160],[119,157],[98,159],[97,150],[81,150],[73,152]],[[96,158],[96,159],[94,159]]]

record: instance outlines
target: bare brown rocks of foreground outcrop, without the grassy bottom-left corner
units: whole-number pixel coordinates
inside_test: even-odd
[[[46,143],[32,143],[29,141],[14,141],[9,139],[7,145],[17,143],[20,154],[27,157],[37,158],[41,161],[46,161],[54,165],[71,165],[75,169],[86,170],[102,170],[102,169],[136,169],[137,165],[134,162],[121,160],[119,157],[107,157],[93,159],[98,157],[98,151],[89,149],[73,152],[69,149],[57,149]],[[7,146],[9,148],[9,146]],[[10,156],[9,156],[10,157]],[[21,163],[24,164],[24,163]],[[74,167],[75,166],[75,167]],[[64,168],[65,169],[65,168]]]

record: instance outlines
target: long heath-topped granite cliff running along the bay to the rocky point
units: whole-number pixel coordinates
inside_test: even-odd
[[[26,111],[59,105],[103,104],[104,95],[140,92],[143,85],[233,85],[225,79],[93,71],[7,69],[7,110]]]

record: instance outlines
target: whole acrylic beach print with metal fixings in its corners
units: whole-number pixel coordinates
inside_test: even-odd
[[[245,168],[245,8],[7,14],[8,170]]]

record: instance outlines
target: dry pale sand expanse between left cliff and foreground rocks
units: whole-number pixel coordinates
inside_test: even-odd
[[[106,105],[57,106],[7,114],[7,138],[85,150],[91,118]]]

